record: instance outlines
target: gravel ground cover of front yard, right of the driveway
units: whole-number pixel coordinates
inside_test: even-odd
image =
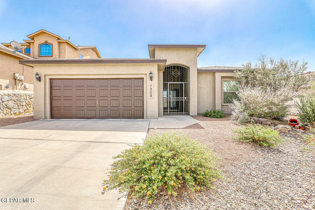
[[[221,175],[214,189],[195,193],[182,189],[177,197],[160,194],[152,204],[128,197],[125,209],[315,209],[315,146],[301,136],[281,134],[285,143],[267,148],[233,140],[228,117],[200,121],[184,129],[150,129],[147,136],[169,131],[186,133],[221,158]]]

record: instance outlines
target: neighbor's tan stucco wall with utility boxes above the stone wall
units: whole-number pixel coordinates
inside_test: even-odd
[[[0,84],[2,84],[3,89],[15,89],[13,73],[18,73],[24,76],[23,83],[28,85],[28,90],[33,91],[33,68],[19,64],[19,60],[21,60],[21,58],[0,52]],[[21,80],[18,80],[17,89],[25,90],[23,89],[24,85],[20,85],[21,82]],[[11,83],[12,87],[4,88],[8,83]]]

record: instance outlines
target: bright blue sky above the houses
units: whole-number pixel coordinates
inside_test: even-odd
[[[241,66],[261,54],[315,71],[315,1],[0,0],[0,42],[40,29],[104,58],[148,58],[147,44],[207,44],[198,67]]]

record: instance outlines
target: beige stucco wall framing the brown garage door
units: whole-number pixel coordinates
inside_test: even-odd
[[[157,119],[157,64],[35,64],[42,81],[34,81],[34,118],[50,118],[51,78],[144,78],[144,118]],[[149,73],[152,71],[153,81]],[[149,99],[149,84],[153,83],[153,98]]]

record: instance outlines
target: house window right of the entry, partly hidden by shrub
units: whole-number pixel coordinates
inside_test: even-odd
[[[231,104],[233,103],[233,99],[238,99],[238,88],[241,86],[241,81],[234,79],[222,79],[222,103],[223,104]]]

